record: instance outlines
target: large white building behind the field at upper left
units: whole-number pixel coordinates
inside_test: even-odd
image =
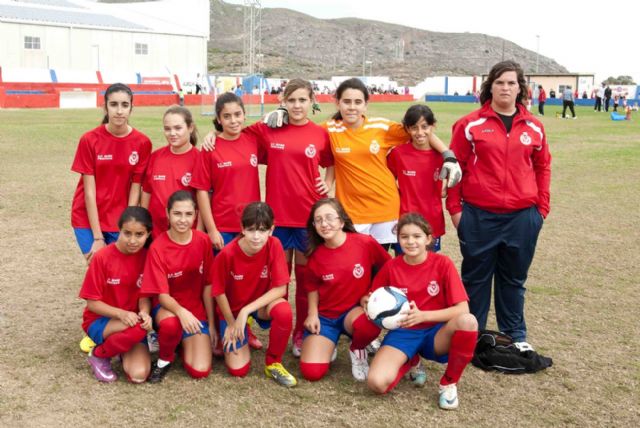
[[[0,67],[205,74],[209,0],[0,0]]]

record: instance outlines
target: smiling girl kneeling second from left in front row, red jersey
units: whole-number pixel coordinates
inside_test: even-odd
[[[178,190],[167,202],[169,230],[154,240],[144,268],[142,293],[154,296],[158,360],[149,382],[162,381],[182,342],[185,370],[195,379],[211,371],[213,328],[211,240],[193,230],[196,203],[191,192]]]

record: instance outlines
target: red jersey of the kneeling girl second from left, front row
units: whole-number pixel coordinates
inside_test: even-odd
[[[211,284],[213,252],[206,233],[192,231],[188,244],[173,242],[167,232],[149,249],[142,281],[143,295],[169,294],[201,321],[207,320],[202,290]]]

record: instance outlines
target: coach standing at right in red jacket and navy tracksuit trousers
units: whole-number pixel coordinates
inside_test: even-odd
[[[482,83],[482,107],[453,125],[451,149],[463,175],[447,198],[471,312],[485,328],[495,282],[498,328],[521,350],[532,349],[526,342],[525,281],[549,213],[551,181],[544,127],[527,111],[526,96],[519,64],[493,66]]]

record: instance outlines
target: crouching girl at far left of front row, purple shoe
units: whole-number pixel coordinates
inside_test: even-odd
[[[87,301],[82,328],[96,343],[87,361],[102,382],[117,379],[111,357],[118,354],[132,383],[149,376],[151,359],[144,339],[152,328],[151,302],[140,298],[139,291],[151,228],[146,209],[126,208],[118,220],[118,239],[93,257],[80,289]]]

